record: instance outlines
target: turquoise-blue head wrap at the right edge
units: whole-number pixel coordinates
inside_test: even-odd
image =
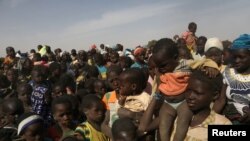
[[[242,34],[235,39],[232,44],[232,49],[250,49],[250,34]]]

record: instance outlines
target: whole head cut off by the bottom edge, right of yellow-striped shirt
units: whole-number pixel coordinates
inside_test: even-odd
[[[112,136],[114,141],[136,141],[137,128],[129,118],[117,119],[112,125]]]

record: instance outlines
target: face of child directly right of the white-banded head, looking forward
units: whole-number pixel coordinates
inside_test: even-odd
[[[69,127],[72,121],[72,108],[67,103],[57,104],[53,116],[61,126]]]

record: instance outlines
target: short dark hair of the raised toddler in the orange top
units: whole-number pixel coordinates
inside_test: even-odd
[[[153,48],[153,54],[164,52],[170,58],[178,57],[178,48],[176,43],[170,38],[162,38],[156,42]]]

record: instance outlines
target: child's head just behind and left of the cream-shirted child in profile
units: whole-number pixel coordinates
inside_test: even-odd
[[[112,90],[117,90],[119,87],[119,75],[122,73],[122,68],[118,65],[112,65],[107,70],[108,85]]]

